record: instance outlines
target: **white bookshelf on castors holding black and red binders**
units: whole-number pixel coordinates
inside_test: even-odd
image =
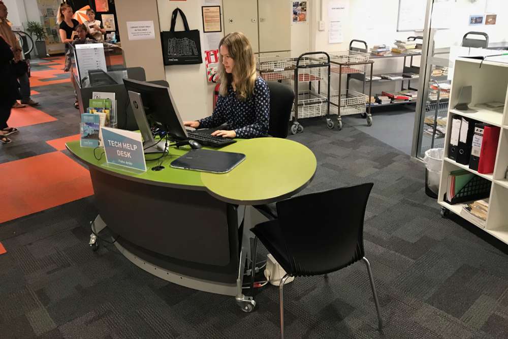
[[[467,113],[453,109],[458,102],[462,86],[472,86],[472,97],[469,107],[477,112]],[[494,101],[504,102],[504,109],[489,109],[484,105],[484,103]],[[448,125],[437,198],[437,202],[442,208],[441,212],[444,215],[448,212],[453,212],[460,216],[462,205],[467,203],[462,202],[451,205],[443,200],[448,186],[448,174],[451,171],[465,169],[475,175],[488,179],[492,182],[492,188],[489,197],[487,223],[485,228],[479,224],[476,224],[476,226],[497,239],[508,243],[508,179],[505,178],[506,167],[508,166],[508,64],[496,63],[494,61],[484,61],[481,64],[479,60],[458,58],[455,62],[449,107],[448,121],[452,121],[454,115],[465,116],[501,127],[501,134],[497,147],[494,173],[482,174],[470,169],[468,165],[459,164],[448,158],[448,145],[450,144],[450,136],[452,134],[452,126],[451,124]]]

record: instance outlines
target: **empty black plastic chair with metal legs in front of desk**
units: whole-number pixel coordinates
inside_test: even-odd
[[[363,260],[383,328],[374,279],[363,246],[365,208],[373,183],[311,193],[277,202],[278,219],[251,231],[287,272],[280,282],[280,333],[284,337],[283,287],[290,276],[327,274]]]

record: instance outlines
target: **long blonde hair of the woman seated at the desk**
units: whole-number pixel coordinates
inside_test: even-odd
[[[227,73],[223,65],[223,56],[219,53],[219,94],[223,97],[228,95],[228,86],[233,83],[233,75],[236,80],[236,97],[245,101],[254,91],[256,82],[256,59],[252,52],[252,46],[247,37],[240,32],[226,35],[219,42],[220,46],[228,48],[228,54],[235,61],[233,73]]]

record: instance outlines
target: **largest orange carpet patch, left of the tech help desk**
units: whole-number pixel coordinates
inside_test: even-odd
[[[90,173],[62,152],[0,164],[0,223],[93,194]]]

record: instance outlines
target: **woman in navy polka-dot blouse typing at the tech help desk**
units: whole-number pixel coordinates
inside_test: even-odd
[[[184,121],[193,128],[213,128],[227,123],[231,130],[212,135],[225,138],[256,138],[268,133],[270,91],[256,74],[250,42],[242,33],[230,33],[219,43],[220,89],[211,116]]]

